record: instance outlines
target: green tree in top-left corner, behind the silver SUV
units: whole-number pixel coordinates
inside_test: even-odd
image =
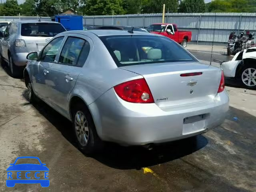
[[[19,13],[20,6],[18,5],[17,0],[7,0],[0,12],[0,14],[4,16],[18,16]]]

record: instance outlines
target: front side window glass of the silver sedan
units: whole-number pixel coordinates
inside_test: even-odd
[[[62,40],[64,37],[58,37],[54,40],[52,40],[43,50],[41,61],[44,62],[54,62],[55,57],[58,53],[58,50],[61,46]]]

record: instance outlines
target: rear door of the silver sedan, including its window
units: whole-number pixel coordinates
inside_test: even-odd
[[[59,112],[68,114],[68,96],[92,49],[92,40],[83,35],[68,36],[60,52],[58,63],[52,67],[54,76],[50,86],[51,102]]]

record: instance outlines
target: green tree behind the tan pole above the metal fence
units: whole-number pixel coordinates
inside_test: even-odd
[[[142,2],[142,13],[162,13],[163,4],[166,12],[176,13],[178,11],[178,0],[144,0]]]

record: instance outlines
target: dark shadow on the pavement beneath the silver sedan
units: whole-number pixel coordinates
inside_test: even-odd
[[[27,98],[26,95],[26,91],[24,91],[23,96],[25,98]],[[62,133],[66,140],[77,147],[74,142],[72,124],[68,119],[43,101],[34,104],[34,107]],[[142,146],[124,147],[107,142],[102,152],[93,154],[90,157],[112,168],[140,169],[181,158],[200,150],[207,143],[208,140],[202,135],[154,146],[152,150]]]

